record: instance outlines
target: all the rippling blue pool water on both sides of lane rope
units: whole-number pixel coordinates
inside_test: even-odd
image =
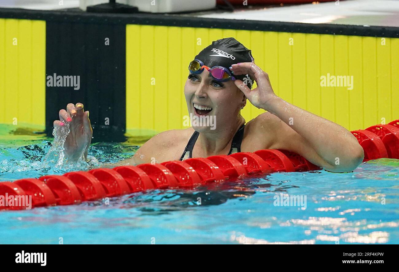
[[[0,181],[64,173],[43,166],[49,140],[19,148],[3,143]],[[109,163],[136,150],[101,143],[89,154]],[[398,181],[399,160],[380,159],[353,173],[273,173],[195,190],[134,193],[112,198],[109,205],[0,211],[0,243],[398,244]],[[306,196],[298,203],[306,206],[278,206],[277,197],[286,195],[303,201]]]

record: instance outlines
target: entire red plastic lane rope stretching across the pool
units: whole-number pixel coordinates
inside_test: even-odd
[[[399,120],[351,132],[364,150],[364,161],[399,159]],[[0,209],[26,209],[6,205],[6,197],[32,197],[32,207],[71,205],[150,189],[194,188],[247,174],[319,170],[304,157],[287,150],[258,150],[161,164],[118,166],[0,182]]]

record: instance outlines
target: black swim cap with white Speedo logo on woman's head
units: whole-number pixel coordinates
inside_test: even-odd
[[[208,67],[223,66],[229,71],[229,67],[232,64],[254,61],[251,50],[232,37],[213,41],[211,45],[202,49],[195,59],[199,59]],[[241,79],[249,89],[252,89],[252,85],[255,82],[252,77],[249,75],[237,75],[234,77]]]

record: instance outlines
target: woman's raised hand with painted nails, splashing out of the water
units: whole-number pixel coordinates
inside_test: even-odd
[[[77,161],[83,153],[87,161],[93,130],[91,128],[89,111],[83,110],[83,104],[67,104],[67,110],[59,111],[59,120],[53,122],[54,127],[64,127],[69,124],[69,134],[64,143],[64,153],[69,160]]]

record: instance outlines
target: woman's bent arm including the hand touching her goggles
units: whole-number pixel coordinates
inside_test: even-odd
[[[353,171],[363,161],[363,148],[348,130],[275,95],[269,75],[255,63],[233,64],[230,69],[234,75],[249,74],[255,78],[257,87],[253,90],[239,79],[234,83],[251,104],[271,112],[283,121],[275,124],[277,129],[272,147],[268,142],[265,142],[265,146],[296,152],[313,164],[335,172]],[[255,119],[262,121],[258,117]],[[268,133],[266,128],[270,124],[273,123],[265,123],[265,133]]]

